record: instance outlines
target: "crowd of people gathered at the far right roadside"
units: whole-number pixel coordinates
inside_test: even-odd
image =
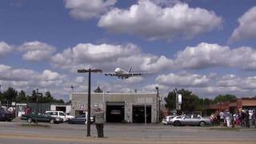
[[[231,114],[229,110],[221,110],[217,114],[211,114],[211,121],[214,125],[226,127],[256,127],[256,112],[255,110],[241,110]]]

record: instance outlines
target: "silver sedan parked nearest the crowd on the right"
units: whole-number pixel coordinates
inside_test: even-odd
[[[185,116],[177,116],[171,120],[174,126],[206,126],[211,125],[210,118],[202,118],[200,115],[188,114]]]

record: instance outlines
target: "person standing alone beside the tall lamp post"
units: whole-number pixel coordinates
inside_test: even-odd
[[[104,111],[101,108],[98,108],[95,111],[94,116],[95,116],[95,125],[98,133],[98,138],[103,138],[104,137],[104,133],[103,133]]]

